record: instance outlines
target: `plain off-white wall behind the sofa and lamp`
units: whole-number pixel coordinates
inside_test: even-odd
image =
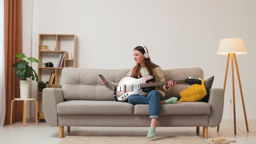
[[[256,1],[30,0],[23,4],[23,8],[33,8],[33,20],[30,10],[23,14],[28,22],[24,22],[24,29],[28,28],[24,31],[24,51],[38,57],[39,33],[77,34],[79,68],[132,68],[133,48],[143,44],[162,69],[201,67],[206,79],[215,76],[213,87],[222,88],[226,56],[216,55],[219,41],[242,38],[248,50],[247,55],[237,56],[243,95],[248,119],[256,119]],[[36,64],[33,67],[37,69]],[[36,98],[33,83],[31,93]],[[243,119],[237,77],[235,89],[236,117]],[[231,98],[230,67],[223,119],[229,119]]]

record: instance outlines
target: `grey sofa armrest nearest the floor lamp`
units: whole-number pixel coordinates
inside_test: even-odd
[[[210,90],[208,103],[211,105],[209,127],[217,127],[222,121],[224,107],[224,89],[212,88]]]

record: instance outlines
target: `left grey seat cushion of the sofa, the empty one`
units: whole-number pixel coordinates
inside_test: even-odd
[[[133,115],[133,105],[118,101],[69,100],[57,104],[58,114]]]

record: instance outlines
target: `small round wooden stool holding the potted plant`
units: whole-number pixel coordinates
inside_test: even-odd
[[[37,100],[35,99],[21,99],[21,98],[15,98],[14,100],[11,100],[11,118],[10,118],[10,125],[13,124],[13,102],[22,100],[23,101],[23,127],[26,127],[26,112],[27,112],[27,101],[34,101],[36,102],[36,125],[37,125]]]

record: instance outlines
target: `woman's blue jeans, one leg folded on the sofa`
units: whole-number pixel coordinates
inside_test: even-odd
[[[162,100],[165,100],[165,97],[159,91],[153,90],[148,93],[147,97],[139,94],[130,95],[128,98],[128,103],[133,105],[149,105],[149,118],[159,118],[159,113],[161,111],[160,101]]]

